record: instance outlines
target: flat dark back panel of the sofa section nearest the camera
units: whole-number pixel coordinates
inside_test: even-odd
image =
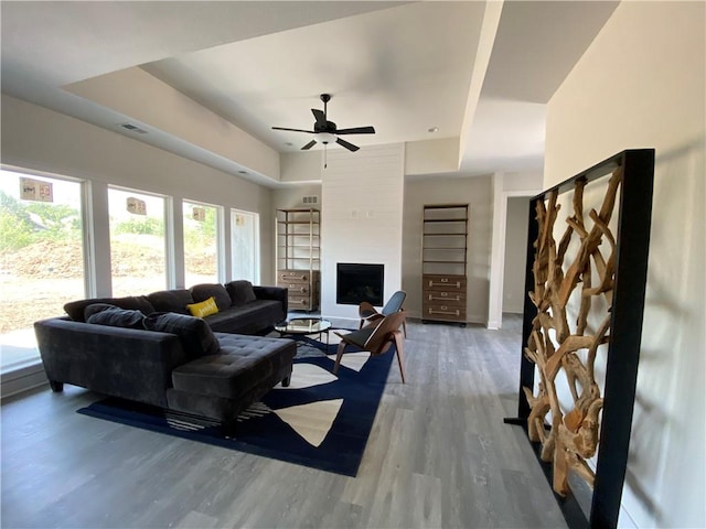
[[[189,360],[175,334],[55,317],[34,323],[46,377],[105,395],[167,406],[172,370]]]

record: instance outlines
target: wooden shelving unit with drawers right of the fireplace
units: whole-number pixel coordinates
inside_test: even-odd
[[[421,321],[466,326],[468,204],[425,205]]]

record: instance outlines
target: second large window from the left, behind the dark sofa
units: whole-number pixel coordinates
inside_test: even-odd
[[[113,295],[167,288],[164,197],[108,188]]]

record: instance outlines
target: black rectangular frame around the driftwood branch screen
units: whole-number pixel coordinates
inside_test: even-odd
[[[534,277],[532,273],[534,262],[533,245],[538,237],[538,226],[535,218],[536,202],[545,201],[548,194],[554,191],[563,194],[574,190],[577,180],[582,179],[588,183],[608,176],[618,166],[623,168],[623,177],[618,201],[616,278],[598,463],[590,516],[586,517],[577,499],[571,494],[566,497],[555,495],[564,517],[571,528],[618,526],[620,499],[628,466],[628,449],[638,380],[638,363],[640,360],[652,217],[654,149],[622,151],[542,192],[530,201],[525,292],[534,291]],[[527,344],[532,331],[532,321],[536,314],[536,307],[530,296],[526,295],[521,350],[524,350],[524,346]],[[517,418],[505,419],[505,422],[522,425],[526,432],[531,408],[522,388],[534,387],[535,365],[525,358],[523,353],[521,355]],[[532,444],[550,484],[552,465],[539,460],[539,443]]]

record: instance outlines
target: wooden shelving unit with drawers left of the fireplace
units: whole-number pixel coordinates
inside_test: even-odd
[[[277,285],[289,289],[289,309],[319,309],[321,212],[315,208],[277,209]]]

